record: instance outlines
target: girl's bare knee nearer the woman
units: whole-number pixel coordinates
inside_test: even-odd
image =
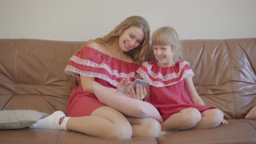
[[[184,125],[191,128],[197,125],[201,120],[201,113],[195,108],[188,108],[186,112],[183,113]]]

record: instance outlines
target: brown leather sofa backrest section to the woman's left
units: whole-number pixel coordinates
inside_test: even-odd
[[[64,68],[83,42],[0,40],[0,108],[66,112]]]

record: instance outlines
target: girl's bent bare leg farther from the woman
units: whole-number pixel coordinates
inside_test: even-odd
[[[215,128],[219,126],[223,120],[223,113],[219,109],[208,109],[202,112],[200,122],[191,129]]]

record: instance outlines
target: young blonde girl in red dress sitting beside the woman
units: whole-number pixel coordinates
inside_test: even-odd
[[[157,29],[152,46],[158,62],[144,62],[137,72],[150,85],[144,100],[163,117],[162,131],[214,128],[227,123],[219,109],[205,106],[197,94],[189,63],[177,61],[181,59],[177,32],[172,27]]]

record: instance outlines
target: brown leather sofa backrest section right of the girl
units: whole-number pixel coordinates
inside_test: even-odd
[[[182,45],[205,104],[235,119],[256,106],[256,38],[183,40]]]

